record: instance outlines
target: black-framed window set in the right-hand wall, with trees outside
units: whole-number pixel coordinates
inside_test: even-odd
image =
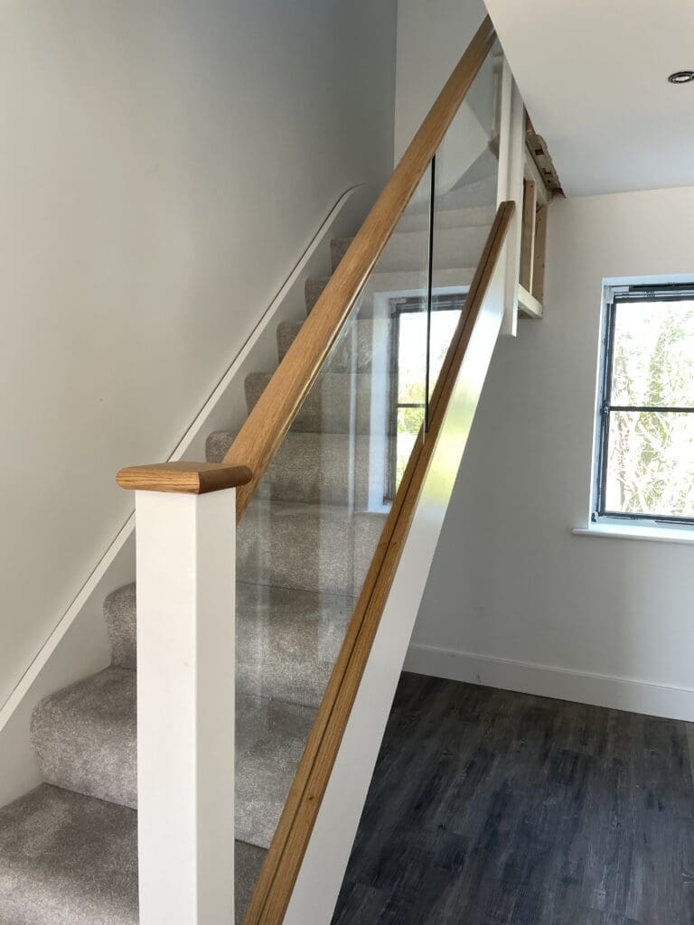
[[[593,520],[694,524],[694,284],[605,300]]]

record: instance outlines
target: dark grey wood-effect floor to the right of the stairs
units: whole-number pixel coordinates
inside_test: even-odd
[[[694,925],[688,735],[403,674],[333,925]]]

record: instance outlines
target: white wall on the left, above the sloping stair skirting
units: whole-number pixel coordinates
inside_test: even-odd
[[[395,0],[10,0],[0,705],[342,191],[393,138]]]

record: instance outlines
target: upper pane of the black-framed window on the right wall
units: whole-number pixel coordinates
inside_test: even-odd
[[[694,302],[616,305],[610,401],[694,405]]]

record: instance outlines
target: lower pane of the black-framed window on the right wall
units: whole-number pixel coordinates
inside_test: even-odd
[[[612,412],[605,511],[694,517],[694,414]]]

